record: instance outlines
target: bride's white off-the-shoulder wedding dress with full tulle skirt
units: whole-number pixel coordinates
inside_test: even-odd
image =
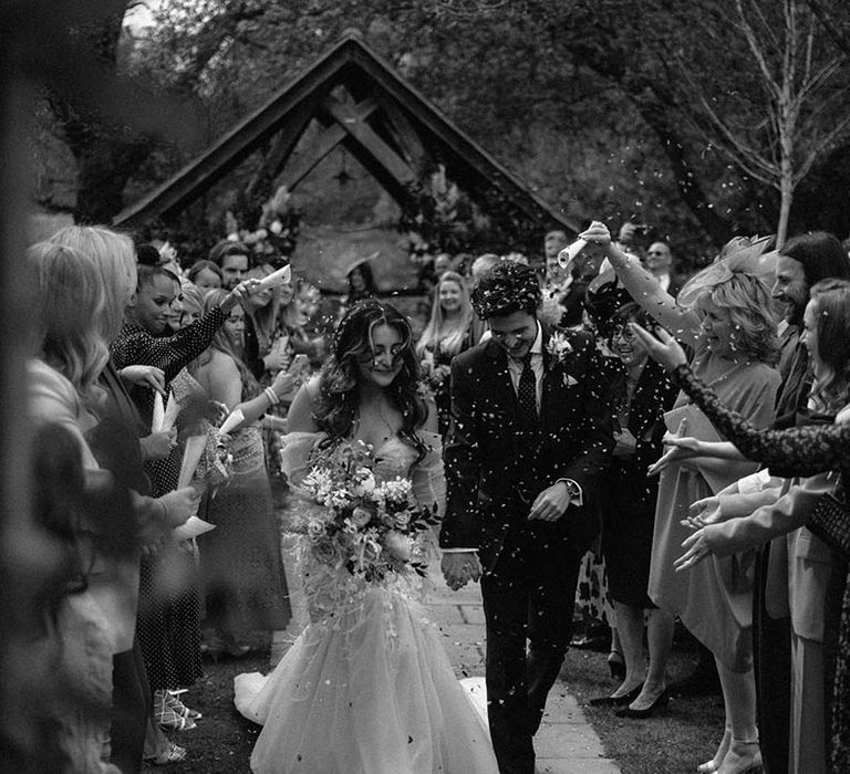
[[[379,450],[375,473],[410,477],[421,503],[439,502],[439,437],[421,437],[431,449],[423,460],[393,438]],[[322,438],[286,438],[291,481],[301,480]],[[302,575],[309,626],[271,674],[235,680],[237,709],[263,726],[251,771],[495,774],[487,728],[422,606],[424,578],[411,571],[366,583],[309,555]]]

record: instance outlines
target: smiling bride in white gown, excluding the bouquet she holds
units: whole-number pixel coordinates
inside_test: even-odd
[[[377,482],[402,478],[419,505],[442,513],[436,410],[421,386],[410,325],[393,306],[366,301],[348,312],[288,425],[283,466],[297,492],[317,464],[371,449]],[[308,517],[320,506],[302,498],[293,508]],[[413,556],[433,553],[428,531],[416,534]],[[485,723],[422,606],[424,579],[414,564],[362,573],[322,562],[309,547],[303,557],[310,625],[270,676],[235,681],[237,709],[263,725],[251,770],[496,772]]]

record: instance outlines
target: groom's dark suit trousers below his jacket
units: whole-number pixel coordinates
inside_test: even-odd
[[[533,774],[531,738],[572,635],[579,564],[554,525],[509,532],[496,566],[481,578],[487,623],[488,719],[501,774]]]

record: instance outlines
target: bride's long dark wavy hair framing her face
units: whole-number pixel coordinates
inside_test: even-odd
[[[373,333],[379,325],[393,328],[402,337],[402,348],[395,356],[401,359],[402,369],[384,395],[402,415],[402,437],[422,454],[424,448],[415,432],[428,416],[422,370],[410,323],[391,304],[362,301],[340,321],[331,356],[322,368],[313,420],[331,441],[351,435],[360,404],[360,363],[373,357]]]

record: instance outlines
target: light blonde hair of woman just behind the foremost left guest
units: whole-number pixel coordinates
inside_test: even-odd
[[[121,331],[124,310],[136,291],[136,249],[133,240],[103,226],[66,226],[48,241],[74,248],[94,261],[105,294],[100,315],[101,333],[111,344]]]

